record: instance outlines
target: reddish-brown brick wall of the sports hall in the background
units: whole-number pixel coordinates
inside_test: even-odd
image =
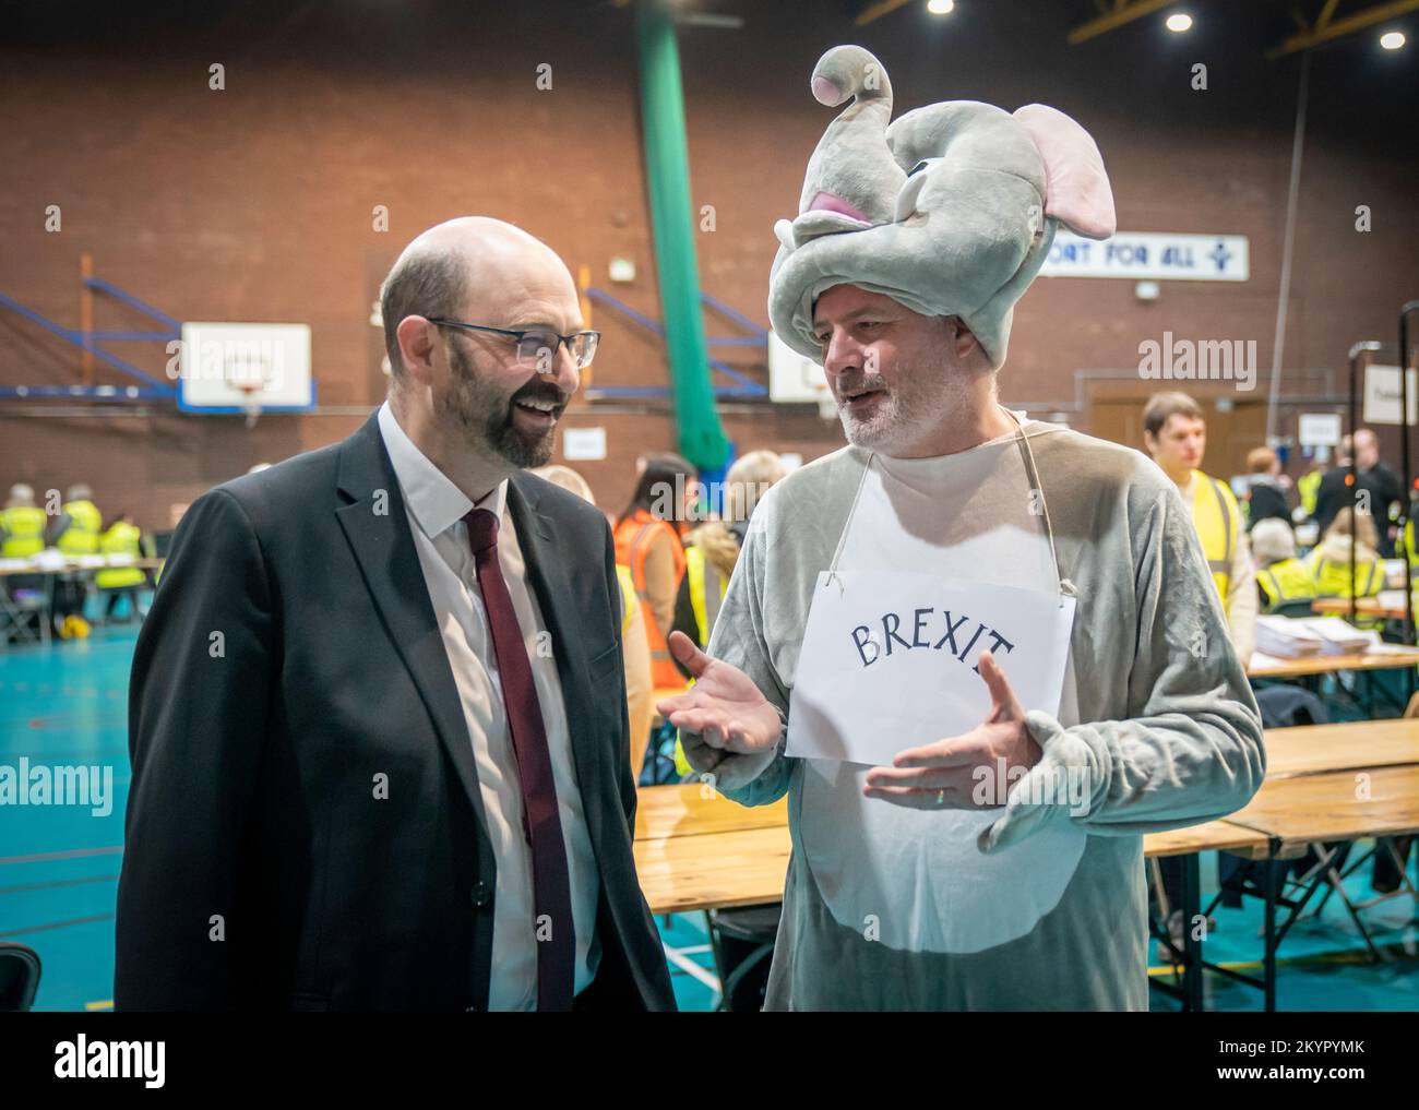
[[[793,214],[830,119],[807,94],[809,72],[829,45],[861,41],[888,67],[898,111],[1039,99],[1076,115],[1104,152],[1122,229],[1250,237],[1250,282],[1165,284],[1152,305],[1127,281],[1037,281],[1016,314],[1006,400],[1070,402],[1076,372],[1135,368],[1138,344],[1164,329],[1257,339],[1270,368],[1297,62],[1267,62],[1261,51],[1284,33],[1284,7],[1280,21],[1250,11],[1210,40],[1162,41],[1145,20],[1076,48],[1064,44],[1078,16],[1069,4],[973,9],[938,23],[911,7],[854,28],[836,3],[725,3],[718,10],[742,13],[744,30],[683,31],[694,203],[715,207],[715,230],[698,237],[705,291],[766,324],[771,229]],[[0,45],[0,292],[77,326],[79,254],[91,251],[99,275],[177,318],[308,322],[319,402],[336,412],[265,416],[248,433],[237,417],[74,406],[34,416],[35,406],[23,414],[0,405],[0,484],[87,480],[105,508],[132,508],[156,527],[169,502],[348,434],[382,393],[368,322],[377,284],[410,237],[451,216],[512,220],[573,273],[590,265],[602,287],[607,260],[629,257],[636,281],[614,292],[660,315],[627,10],[294,11],[261,3],[17,16]],[[1208,92],[1188,88],[1195,61],[1209,65]],[[213,62],[226,67],[221,92],[207,87]],[[542,62],[551,91],[535,85]],[[1392,342],[1399,302],[1419,295],[1419,158],[1393,138],[1403,102],[1413,104],[1403,65],[1412,72],[1403,60],[1375,62],[1368,40],[1314,58],[1286,342],[1287,372],[1311,373],[1287,379],[1288,390],[1314,393],[1323,372],[1342,382],[1349,344]],[[1368,236],[1354,230],[1362,203],[1374,211]],[[62,210],[57,234],[44,230],[48,204]],[[376,204],[389,209],[387,233],[372,229]],[[146,322],[101,298],[96,326]],[[666,383],[661,352],[641,332],[609,312],[596,326],[597,382]],[[711,318],[711,334],[732,331]],[[162,373],[156,344],[114,349]],[[762,373],[752,352],[729,361]],[[0,312],[0,382],[77,375],[77,351]],[[1087,412],[1070,416],[1087,427]],[[734,406],[724,422],[739,450],[815,457],[841,443],[836,422],[812,409]],[[629,495],[636,454],[674,446],[664,406],[583,405],[568,424],[607,429],[609,458],[579,466],[609,507]]]

